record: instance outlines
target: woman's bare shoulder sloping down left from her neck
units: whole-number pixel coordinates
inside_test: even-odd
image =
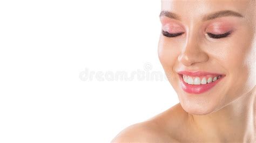
[[[174,107],[175,108],[175,107]],[[173,108],[160,113],[142,123],[130,125],[114,137],[111,143],[118,142],[177,142],[172,135],[177,125],[171,114]],[[171,124],[170,124],[171,123]],[[173,130],[173,131],[172,131]]]

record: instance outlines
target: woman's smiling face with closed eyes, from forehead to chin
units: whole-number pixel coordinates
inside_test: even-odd
[[[253,0],[161,3],[158,56],[186,112],[206,115],[252,90],[256,78]],[[224,13],[213,15],[219,11]],[[210,73],[180,73],[184,70]]]

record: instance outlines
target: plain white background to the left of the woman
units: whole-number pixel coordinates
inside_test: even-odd
[[[160,0],[1,1],[0,142],[110,142],[178,103],[167,81],[92,81],[90,71],[164,73]]]

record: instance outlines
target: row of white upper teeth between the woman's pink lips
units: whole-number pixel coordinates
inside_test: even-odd
[[[218,80],[220,77],[221,75],[215,76],[215,77],[201,77],[201,78],[183,75],[183,80],[188,84],[207,84],[207,83],[211,83]]]

